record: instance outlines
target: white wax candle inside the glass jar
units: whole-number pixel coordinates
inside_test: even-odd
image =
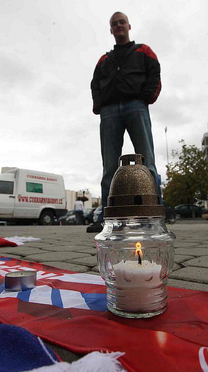
[[[160,280],[161,265],[154,261],[123,260],[113,265],[116,303],[126,311],[152,311],[164,300],[164,288]]]

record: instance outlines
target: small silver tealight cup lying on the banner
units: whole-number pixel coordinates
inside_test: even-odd
[[[5,275],[5,289],[6,291],[27,291],[36,286],[36,279],[36,271],[13,271]]]

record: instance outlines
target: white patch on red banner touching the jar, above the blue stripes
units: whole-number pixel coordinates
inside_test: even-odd
[[[62,281],[75,282],[75,283],[85,283],[85,284],[99,284],[105,285],[104,280],[98,275],[90,274],[63,274],[53,279],[58,279]]]

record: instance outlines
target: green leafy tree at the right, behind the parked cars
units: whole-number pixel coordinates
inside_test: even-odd
[[[172,207],[200,202],[208,195],[208,161],[196,146],[179,142],[182,149],[172,151],[177,160],[166,166],[167,183],[163,189],[163,199]]]

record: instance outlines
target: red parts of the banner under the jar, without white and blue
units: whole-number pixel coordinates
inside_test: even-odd
[[[70,273],[15,259],[7,264],[33,267],[46,274]],[[51,278],[44,281],[50,285]],[[54,280],[56,288],[58,281]],[[109,311],[61,309],[0,298],[0,322],[22,326],[76,353],[124,351],[120,361],[130,372],[208,371],[207,292],[168,288],[168,309],[144,320],[117,317]]]

